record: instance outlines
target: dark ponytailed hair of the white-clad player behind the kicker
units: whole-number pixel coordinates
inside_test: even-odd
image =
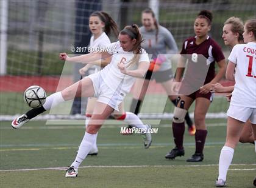
[[[105,27],[104,27],[104,32],[109,36],[111,33],[111,30],[113,30],[115,36],[118,36],[118,26],[116,22],[111,18],[108,13],[104,11],[96,11],[91,13],[91,16],[98,16],[99,19],[101,19],[102,22],[104,22]]]

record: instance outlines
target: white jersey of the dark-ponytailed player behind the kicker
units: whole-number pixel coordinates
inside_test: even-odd
[[[99,52],[101,51],[100,47],[107,47],[110,44],[111,44],[110,39],[108,38],[107,34],[103,32],[101,36],[99,36],[95,40],[94,40],[94,36],[91,36],[88,51],[90,53]],[[93,68],[95,68],[95,72],[98,72],[99,70],[101,70],[101,67],[98,65],[93,65]]]

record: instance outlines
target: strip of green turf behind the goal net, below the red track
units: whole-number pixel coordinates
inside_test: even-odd
[[[47,93],[48,96],[51,93]],[[15,92],[1,92],[0,95],[1,108],[0,115],[15,115],[21,114],[29,110],[29,106],[24,102],[23,93]],[[129,111],[130,104],[132,102],[132,94],[128,94],[124,99],[124,108]],[[69,104],[66,102],[66,104]],[[194,111],[195,102],[190,107],[190,112]],[[226,97],[215,96],[208,112],[218,113],[227,112],[229,108],[229,102],[227,102]],[[65,108],[62,108],[65,109]],[[172,113],[174,110],[174,105],[169,101],[165,94],[149,94],[146,95],[141,106],[141,113]],[[62,113],[65,114],[65,113]]]

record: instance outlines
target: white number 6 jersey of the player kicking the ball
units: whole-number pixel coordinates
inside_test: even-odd
[[[113,91],[119,89],[126,95],[126,93],[130,92],[135,78],[121,73],[118,69],[118,63],[123,62],[126,64],[128,70],[135,70],[138,69],[138,63],[142,61],[149,62],[148,53],[143,49],[143,53],[140,55],[138,62],[132,65],[130,65],[130,63],[134,56],[133,52],[124,52],[119,41],[108,46],[108,53],[112,54],[112,61],[101,70],[102,79],[110,89]]]

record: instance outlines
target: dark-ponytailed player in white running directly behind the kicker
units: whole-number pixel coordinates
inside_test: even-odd
[[[96,47],[107,47],[111,44],[110,39],[108,36],[110,32],[113,31],[115,36],[118,36],[118,26],[116,22],[113,21],[108,13],[100,11],[100,12],[93,12],[89,18],[89,27],[90,31],[93,34],[90,39],[89,48],[96,49]],[[91,52],[93,53],[93,52]],[[88,69],[93,68],[94,73],[101,70],[101,67],[105,67],[108,63],[110,63],[111,58],[99,60],[99,62],[94,62],[99,65],[87,64],[85,67],[79,70],[80,74],[84,74],[87,72]],[[96,104],[97,98],[88,98],[87,108],[85,112],[85,126],[88,126],[88,122],[91,119],[91,115],[93,114],[93,109]],[[138,118],[137,115],[131,112],[125,112],[123,102],[119,104],[119,111],[115,110],[113,112],[113,116],[115,119],[124,121],[127,124],[130,124],[132,127],[143,124]],[[98,135],[98,133],[96,133]],[[90,150],[88,155],[98,155],[98,147],[96,142],[93,145],[93,148]]]

